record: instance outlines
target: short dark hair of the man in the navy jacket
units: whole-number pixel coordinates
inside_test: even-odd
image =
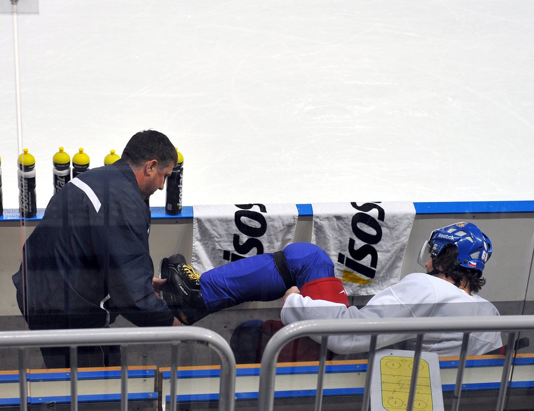
[[[160,168],[165,168],[178,161],[175,146],[166,135],[155,130],[139,131],[133,135],[124,147],[121,158],[131,167],[140,167],[155,159]]]

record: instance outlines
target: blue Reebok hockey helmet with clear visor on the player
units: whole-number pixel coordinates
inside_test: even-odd
[[[458,249],[456,265],[478,270],[482,275],[484,265],[491,257],[491,241],[473,223],[460,222],[434,230],[421,248],[419,264],[424,267],[429,258],[435,260],[447,244]]]

